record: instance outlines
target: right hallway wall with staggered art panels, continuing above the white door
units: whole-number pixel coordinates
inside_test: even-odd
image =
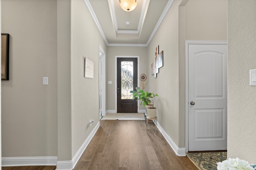
[[[164,51],[164,66],[157,78],[149,76],[148,85],[159,95],[160,125],[180,148],[185,147],[185,40],[227,40],[226,5],[226,0],[174,1],[148,46],[148,67],[156,46]]]

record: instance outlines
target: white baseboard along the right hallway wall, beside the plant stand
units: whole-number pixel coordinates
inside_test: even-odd
[[[168,144],[172,147],[172,150],[176,153],[178,156],[186,156],[186,150],[185,148],[179,148],[174,141],[172,141],[172,138],[164,131],[164,129],[161,127],[161,125],[157,122],[157,127],[159,131],[162,133]]]

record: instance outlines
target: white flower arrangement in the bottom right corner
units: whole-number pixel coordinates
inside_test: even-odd
[[[228,158],[217,163],[217,170],[255,170],[247,161],[239,158]]]

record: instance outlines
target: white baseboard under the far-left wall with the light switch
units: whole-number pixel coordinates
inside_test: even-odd
[[[2,157],[2,166],[56,166],[57,156]]]

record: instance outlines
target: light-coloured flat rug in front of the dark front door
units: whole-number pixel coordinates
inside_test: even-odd
[[[107,113],[102,120],[145,120],[144,113]]]

